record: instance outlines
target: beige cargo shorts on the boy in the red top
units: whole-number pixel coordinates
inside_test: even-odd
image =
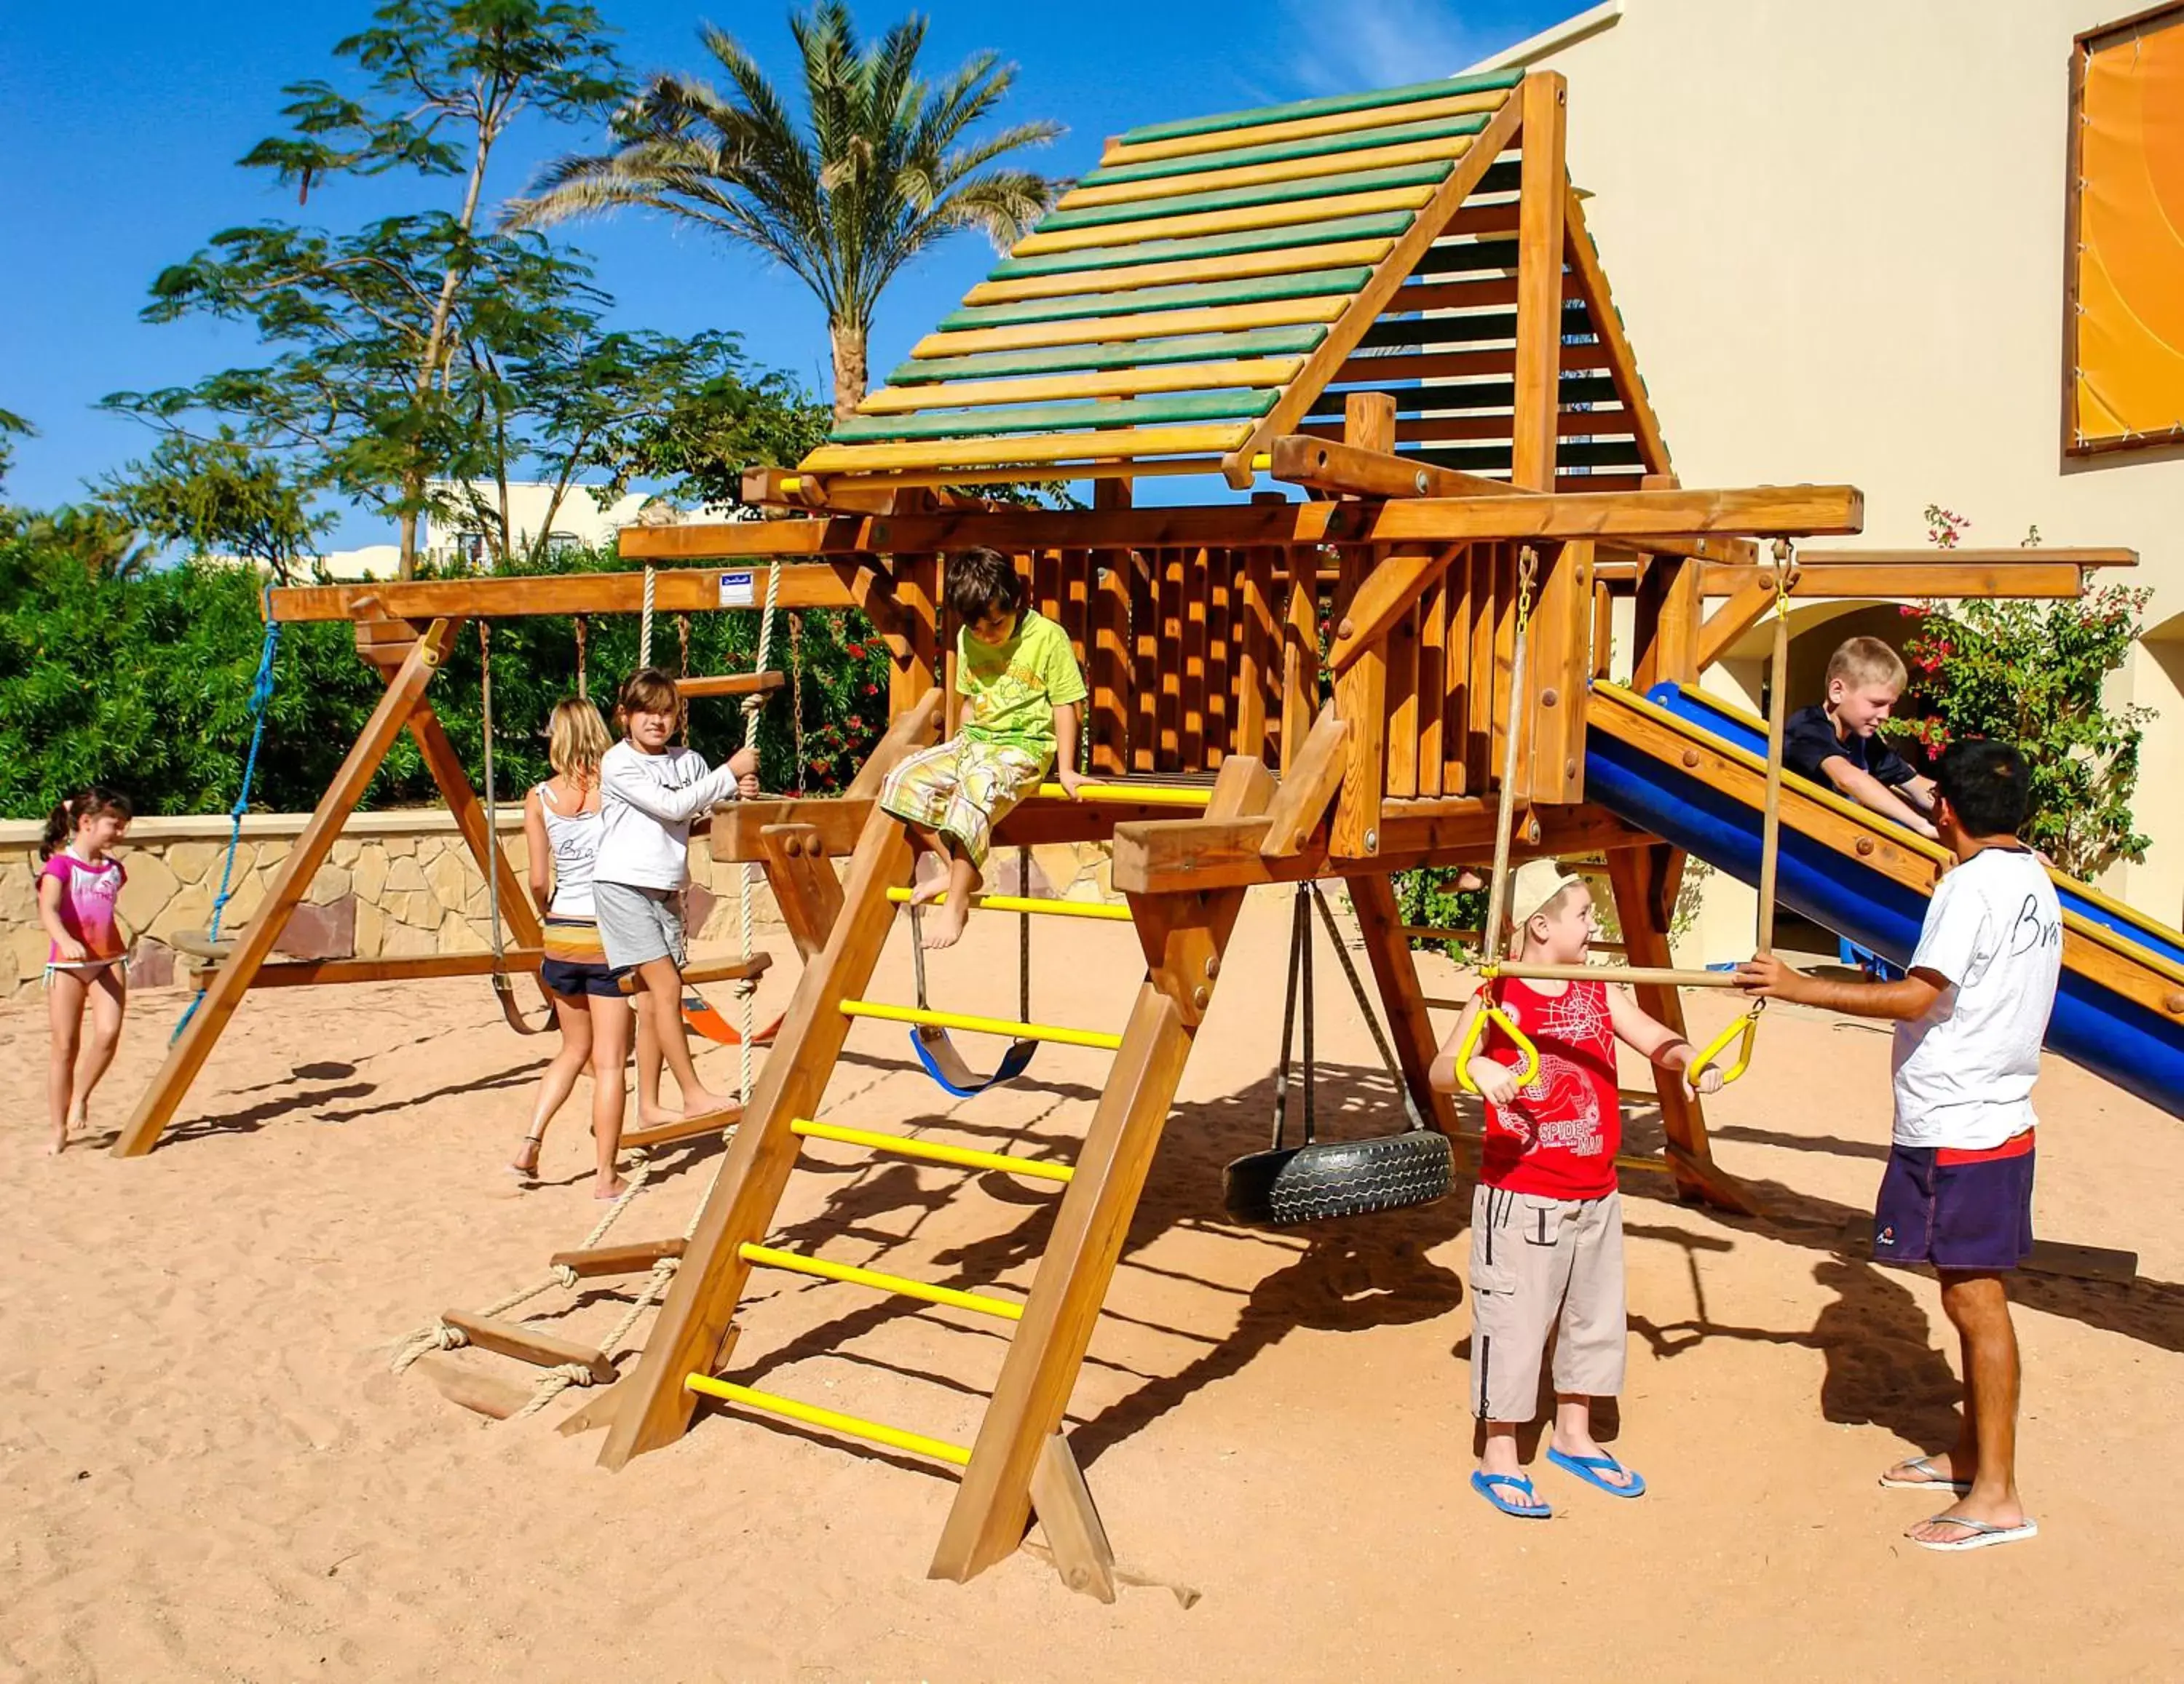
[[[1472,1413],[1529,1422],[1555,1337],[1555,1391],[1623,1389],[1623,1195],[1472,1193]]]

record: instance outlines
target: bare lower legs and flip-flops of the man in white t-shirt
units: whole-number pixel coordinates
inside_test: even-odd
[[[1942,1313],[1963,1352],[1963,1418],[1957,1442],[1931,1457],[1907,1457],[1880,1481],[1909,1490],[1933,1485],[1957,1501],[1904,1535],[1920,1544],[1966,1546],[2027,1522],[2018,1498],[2018,1330],[1998,1273],[1939,1271]]]

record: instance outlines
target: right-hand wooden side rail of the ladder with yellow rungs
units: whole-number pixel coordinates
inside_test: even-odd
[[[1221,764],[1206,813],[1212,819],[1262,813],[1271,788],[1265,767],[1236,756]],[[1212,998],[1221,952],[1241,909],[1241,889],[1131,898],[1151,972],[1123,1029],[1123,1046],[1077,1153],[1077,1175],[1061,1195],[1024,1319],[948,1511],[933,1555],[935,1579],[970,1579],[1024,1538],[1040,1457],[1068,1409],[1129,1217],[1160,1147],[1168,1103],[1190,1057],[1192,1022]],[[780,1059],[769,1059],[769,1068],[773,1064]]]

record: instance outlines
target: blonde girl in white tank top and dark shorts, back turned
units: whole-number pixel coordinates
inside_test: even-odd
[[[537,1179],[546,1125],[590,1066],[592,1140],[598,1151],[592,1193],[618,1199],[625,1186],[614,1155],[622,1145],[622,1066],[629,1062],[636,1013],[620,987],[622,972],[607,965],[598,924],[592,920],[592,865],[601,830],[598,758],[605,751],[607,725],[598,708],[581,697],[561,701],[546,734],[553,778],[524,795],[531,896],[546,909],[539,983],[561,1024],[561,1051],[539,1077],[531,1127],[509,1171],[526,1184]]]

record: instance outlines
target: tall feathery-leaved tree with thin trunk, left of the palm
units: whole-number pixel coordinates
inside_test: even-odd
[[[269,223],[214,236],[153,282],[144,319],[240,321],[280,354],[107,404],[199,439],[216,435],[192,417],[229,417],[247,443],[295,452],[299,478],[395,515],[408,577],[430,481],[491,461],[487,406],[461,389],[480,317],[577,280],[544,242],[480,229],[494,153],[526,114],[590,118],[625,83],[598,13],[555,0],[387,0],[334,52],[363,87],[295,83],[290,133],[242,166],[295,183],[299,203],[345,177],[459,181],[454,207],[352,234]]]

